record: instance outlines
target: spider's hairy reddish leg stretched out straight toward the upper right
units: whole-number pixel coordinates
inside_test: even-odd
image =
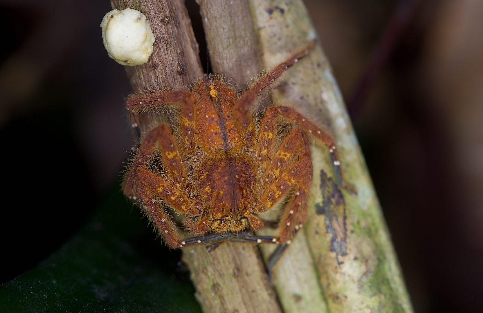
[[[250,110],[252,109],[256,98],[267,91],[274,82],[282,76],[287,68],[298,62],[298,59],[309,54],[309,51],[312,50],[314,46],[315,41],[311,41],[307,47],[292,55],[287,61],[263,74],[258,82],[251,86],[235,104],[233,114],[249,147],[255,147],[256,145],[255,125],[250,118]]]

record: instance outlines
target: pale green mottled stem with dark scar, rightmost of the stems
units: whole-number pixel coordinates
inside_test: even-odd
[[[266,67],[316,37],[301,0],[249,1]],[[313,146],[309,218],[297,240],[306,240],[310,249],[328,312],[412,312],[367,166],[321,47],[283,79],[272,91],[273,100],[298,108],[334,136],[345,181],[357,191],[351,194],[334,183],[327,148]]]

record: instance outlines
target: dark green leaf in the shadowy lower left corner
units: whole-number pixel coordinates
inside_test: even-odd
[[[67,244],[0,286],[0,312],[201,312],[181,252],[154,237],[116,187]]]

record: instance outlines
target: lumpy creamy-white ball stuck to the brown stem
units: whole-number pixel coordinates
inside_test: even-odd
[[[110,11],[100,27],[107,54],[119,64],[144,64],[153,53],[154,35],[149,21],[137,10]]]

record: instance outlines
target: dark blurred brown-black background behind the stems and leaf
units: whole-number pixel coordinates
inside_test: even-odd
[[[201,21],[186,0],[206,70]],[[483,312],[483,1],[307,0],[417,313]],[[0,0],[0,284],[117,188],[134,144],[99,0]]]

